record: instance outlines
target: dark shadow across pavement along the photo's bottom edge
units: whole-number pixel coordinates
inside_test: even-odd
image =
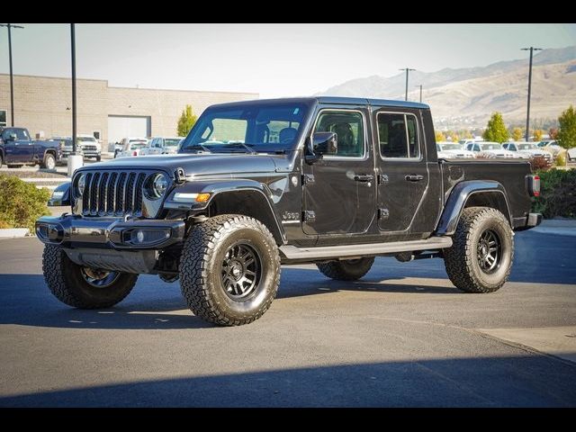
[[[328,365],[36,392],[0,406],[573,407],[574,370],[536,355]]]

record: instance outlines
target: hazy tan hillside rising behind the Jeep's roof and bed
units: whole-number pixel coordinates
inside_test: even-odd
[[[445,68],[437,72],[410,72],[410,89],[424,86],[435,122],[449,127],[481,126],[491,112],[507,122],[526,117],[528,60],[500,61],[487,67]],[[576,46],[545,49],[534,57],[531,117],[555,118],[576,104]],[[320,94],[404,98],[405,76],[368,76],[347,81]],[[419,99],[418,89],[409,93]]]

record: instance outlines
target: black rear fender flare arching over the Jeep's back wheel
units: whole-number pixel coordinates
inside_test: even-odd
[[[504,216],[512,224],[508,196],[504,186],[492,180],[470,180],[456,184],[452,193],[450,193],[438,222],[437,236],[451,236],[455,233],[466,202],[471,196],[478,193],[495,193],[497,194],[496,196],[501,196],[503,203],[500,205],[501,208],[499,210],[504,213]]]

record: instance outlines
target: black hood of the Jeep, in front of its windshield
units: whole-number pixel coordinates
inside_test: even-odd
[[[245,173],[269,173],[276,169],[275,159],[269,155],[246,154],[186,154],[118,157],[106,162],[85,166],[86,169],[163,169],[174,172],[184,168],[188,175],[226,175]]]

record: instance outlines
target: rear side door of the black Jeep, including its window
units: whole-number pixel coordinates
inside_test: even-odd
[[[415,233],[419,227],[413,221],[429,182],[418,112],[383,109],[374,116],[378,227],[391,234]]]

